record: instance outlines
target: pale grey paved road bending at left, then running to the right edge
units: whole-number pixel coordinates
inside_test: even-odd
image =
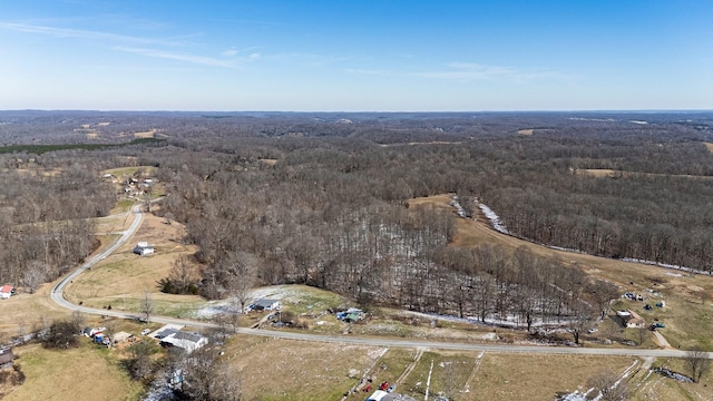
[[[62,294],[68,283],[75,280],[87,268],[94,266],[102,258],[110,255],[119,246],[121,246],[138,228],[141,224],[143,215],[140,212],[140,205],[134,206],[130,212],[134,215],[131,225],[121,234],[121,236],[111,246],[102,251],[100,254],[91,257],[79,268],[71,274],[62,278],[51,292],[52,300],[60,306],[67,307],[72,311],[79,311],[82,313],[98,314],[105,316],[120,317],[120,319],[136,319],[136,313],[107,311],[92,307],[86,307],[81,305],[72,304],[67,301]],[[167,316],[152,316],[152,322],[163,324],[182,324],[193,327],[214,327],[213,323],[199,322],[185,319],[174,319]],[[534,354],[579,354],[579,355],[614,355],[614,356],[654,356],[654,358],[681,358],[685,356],[685,351],[680,350],[642,350],[642,349],[603,349],[603,348],[574,348],[574,346],[546,346],[546,345],[504,345],[504,344],[488,344],[488,343],[460,343],[460,342],[442,342],[442,341],[418,341],[418,340],[392,340],[380,338],[356,338],[345,335],[323,335],[323,334],[307,334],[295,333],[287,331],[270,331],[260,329],[238,329],[238,333],[248,335],[262,335],[275,339],[285,340],[299,340],[299,341],[316,341],[316,342],[331,342],[342,344],[354,345],[369,345],[369,346],[394,346],[394,348],[429,348],[440,350],[458,350],[458,351],[490,351],[490,352],[511,352],[511,353],[534,353]],[[709,352],[707,358],[713,359],[713,353]]]

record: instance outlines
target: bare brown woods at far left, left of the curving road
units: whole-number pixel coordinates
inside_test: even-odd
[[[7,164],[13,156],[6,156]],[[84,162],[84,163],[82,163]],[[0,280],[33,292],[77,266],[98,245],[89,217],[116,194],[87,160],[46,168],[36,162],[0,173]]]

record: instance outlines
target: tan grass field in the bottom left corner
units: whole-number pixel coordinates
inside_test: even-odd
[[[35,344],[17,348],[16,353],[27,381],[6,395],[7,401],[138,400],[143,392],[106,349],[88,341],[80,341],[80,346],[71,350],[45,350]]]

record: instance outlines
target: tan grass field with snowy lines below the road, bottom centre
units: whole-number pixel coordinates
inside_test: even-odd
[[[642,363],[618,356],[384,350],[247,336],[234,338],[225,358],[240,372],[243,397],[248,400],[339,400],[361,378],[371,378],[374,389],[383,381],[397,383],[397,392],[422,399],[431,361],[431,397],[450,391],[461,401],[551,400],[557,392],[586,391],[587,380],[600,371],[622,375]],[[276,374],[263,380],[264,371]],[[635,378],[634,383],[639,381]],[[670,382],[663,379],[656,385],[677,388]],[[346,400],[363,400],[374,389],[358,391]],[[680,397],[678,392],[671,394],[668,400]]]

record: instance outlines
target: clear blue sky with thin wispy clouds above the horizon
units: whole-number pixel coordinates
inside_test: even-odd
[[[713,109],[713,1],[0,0],[0,109]]]

